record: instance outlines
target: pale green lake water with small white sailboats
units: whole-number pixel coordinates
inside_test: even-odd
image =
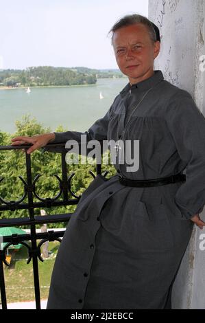
[[[30,113],[51,132],[62,125],[66,131],[86,131],[110,108],[128,78],[98,79],[96,85],[0,90],[0,131],[14,133],[16,120]],[[100,99],[100,93],[103,98]]]

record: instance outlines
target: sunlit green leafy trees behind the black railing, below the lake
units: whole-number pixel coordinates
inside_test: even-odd
[[[67,131],[62,126],[58,126],[56,132]],[[0,145],[6,146],[11,144],[12,137],[19,135],[37,135],[40,133],[49,133],[51,129],[44,128],[42,124],[36,121],[35,118],[31,118],[29,114],[24,115],[22,120],[16,121],[16,132],[14,134],[5,133],[0,131]],[[108,152],[107,152],[108,153]],[[80,157],[81,161],[81,157]],[[61,154],[44,152],[43,149],[34,151],[31,154],[32,163],[32,181],[39,174],[41,175],[36,182],[36,193],[42,198],[55,197],[59,192],[59,182],[54,175],[62,178],[61,173]],[[95,174],[95,164],[71,164],[67,165],[67,176],[69,177],[73,172],[75,176],[71,179],[71,190],[76,196],[80,196],[82,192],[88,187],[93,180],[93,177],[89,173],[92,170]],[[107,177],[115,174],[116,170],[114,166],[103,165],[102,171],[109,171]],[[23,196],[24,185],[19,175],[27,181],[26,167],[25,167],[25,152],[21,149],[14,149],[12,151],[1,151],[0,153],[0,177],[4,177],[0,185],[0,195],[6,201],[16,201]],[[69,199],[73,199],[69,194]],[[27,198],[25,199],[27,202]],[[38,202],[38,199],[34,197],[34,202]],[[47,214],[61,214],[72,213],[75,211],[76,205],[67,205],[60,207],[45,208]],[[29,215],[28,210],[6,210],[0,212],[0,219],[10,217],[27,217]],[[40,209],[34,210],[35,215],[40,215]],[[67,223],[56,223],[50,225],[51,227],[64,227]]]

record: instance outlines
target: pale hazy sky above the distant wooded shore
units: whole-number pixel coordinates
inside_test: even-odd
[[[133,13],[148,0],[0,0],[0,69],[118,68],[108,32]]]

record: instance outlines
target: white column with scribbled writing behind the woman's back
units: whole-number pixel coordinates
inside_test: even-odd
[[[155,69],[161,69],[173,85],[189,91],[205,115],[205,63],[200,61],[205,56],[205,1],[149,0],[149,19],[162,35]],[[205,210],[200,216],[205,220]],[[173,309],[205,309],[205,229],[193,230],[172,300]]]

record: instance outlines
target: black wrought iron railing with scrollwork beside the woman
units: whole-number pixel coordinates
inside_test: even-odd
[[[34,214],[34,209],[36,208],[51,208],[60,205],[74,205],[77,204],[80,197],[77,197],[71,190],[71,179],[74,173],[67,177],[67,163],[66,154],[67,149],[64,148],[65,144],[47,144],[45,147],[46,151],[51,151],[53,153],[61,154],[61,168],[62,168],[62,178],[55,175],[59,181],[59,192],[56,197],[43,199],[36,192],[36,181],[40,175],[37,175],[32,181],[32,166],[31,166],[31,155],[27,154],[26,151],[30,145],[22,146],[0,146],[0,151],[11,151],[14,149],[25,149],[25,167],[26,167],[26,179],[19,176],[24,185],[24,194],[18,201],[5,201],[5,199],[0,197],[0,212],[5,210],[27,210],[28,216],[23,218],[12,218],[12,219],[0,219],[0,227],[12,227],[20,225],[28,225],[30,228],[29,234],[12,234],[11,236],[4,236],[3,243],[7,243],[2,250],[0,250],[0,290],[1,290],[1,306],[2,309],[7,309],[7,299],[6,299],[6,289],[5,289],[5,278],[3,263],[8,265],[6,261],[6,251],[10,245],[18,245],[21,243],[27,247],[28,260],[30,263],[32,260],[33,264],[33,274],[34,274],[34,293],[36,300],[36,309],[40,309],[40,285],[39,285],[39,275],[38,275],[38,260],[43,261],[41,258],[40,247],[46,241],[61,241],[64,234],[64,230],[53,231],[48,230],[48,232],[36,232],[36,225],[45,223],[60,223],[69,221],[72,213],[67,214],[51,214],[45,216],[36,216]],[[93,172],[91,175],[95,178]],[[101,174],[101,164],[96,164],[97,175]],[[106,172],[107,173],[107,172]],[[106,175],[106,174],[105,174]],[[1,177],[0,183],[3,180]],[[69,199],[69,194],[73,199]],[[38,200],[34,201],[34,197]],[[25,199],[27,198],[27,203]],[[37,243],[40,240],[40,243]],[[27,242],[30,241],[28,244]]]

